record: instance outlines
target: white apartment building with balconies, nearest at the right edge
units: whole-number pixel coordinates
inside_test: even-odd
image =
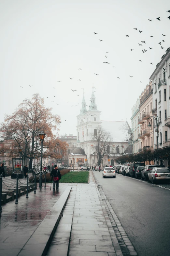
[[[158,118],[159,130],[155,132],[155,149],[170,146],[170,47],[162,56],[150,76],[153,86],[152,115]],[[155,120],[154,120],[154,124]],[[166,164],[166,163],[165,163]]]

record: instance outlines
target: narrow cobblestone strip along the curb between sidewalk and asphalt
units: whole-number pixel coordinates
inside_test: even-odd
[[[137,255],[137,252],[135,251],[134,246],[132,245],[131,241],[129,240],[125,230],[123,229],[118,217],[116,216],[115,212],[113,211],[109,201],[107,200],[107,197],[105,196],[105,193],[103,192],[103,189],[99,185],[97,179],[93,175],[95,182],[98,187],[98,191],[100,193],[100,197],[103,201],[103,205],[106,209],[106,212],[109,217],[109,221],[111,222],[112,230],[114,230],[114,233],[116,235],[116,240],[119,243],[119,246],[121,248],[121,252],[124,256],[129,255]],[[99,198],[100,198],[99,197]],[[109,230],[110,231],[110,230]],[[114,244],[115,247],[115,244]],[[118,254],[119,255],[119,254]]]

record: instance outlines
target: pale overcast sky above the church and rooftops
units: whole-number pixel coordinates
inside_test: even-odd
[[[81,88],[89,105],[92,84],[101,120],[129,121],[131,108],[170,47],[167,10],[169,0],[1,0],[0,122],[23,99],[39,93],[61,116],[60,134],[76,135]]]

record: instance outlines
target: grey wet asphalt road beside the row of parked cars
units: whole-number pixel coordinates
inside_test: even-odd
[[[170,255],[170,190],[93,172],[139,256]]]

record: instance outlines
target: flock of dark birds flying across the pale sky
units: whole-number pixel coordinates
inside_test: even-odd
[[[169,12],[170,13],[170,10],[168,10],[167,12]],[[170,16],[168,16],[167,17],[169,20],[170,20]],[[153,22],[153,20],[152,19],[148,19],[149,20],[149,22]],[[158,20],[158,21],[161,21],[161,18],[160,17],[158,17],[158,18],[156,18],[156,20]],[[136,31],[138,31],[139,33],[142,33],[143,31],[142,30],[140,30],[140,29],[137,29],[136,27],[135,28],[133,28],[134,30],[136,30]],[[98,35],[98,33],[96,33],[96,32],[93,32],[94,33],[94,35]],[[130,37],[128,34],[127,35],[125,35],[126,37]],[[165,34],[162,34],[162,36],[163,37],[166,37],[166,35]],[[151,35],[150,36],[150,38],[152,38],[153,36]],[[103,39],[98,39],[100,42],[102,42],[102,41],[104,41]],[[164,49],[164,47],[162,46],[162,43],[165,43],[165,40],[163,39],[161,42],[158,42],[158,44],[161,46],[161,48],[162,49]],[[138,45],[139,46],[144,46],[145,45],[145,48],[146,48],[146,46],[147,46],[147,42],[145,42],[145,41],[140,41],[140,43],[138,43]],[[143,48],[143,47],[141,47],[141,48]],[[147,48],[146,48],[147,49]],[[142,49],[142,53],[146,53],[148,50],[151,50],[151,49],[153,49],[153,47],[148,47],[148,49],[147,50],[145,50],[145,49]],[[131,51],[134,51],[134,49],[130,49]],[[107,53],[109,53],[108,51],[106,51],[106,54]],[[105,55],[105,58],[107,58],[108,56],[106,56]],[[142,60],[139,60],[140,62],[142,62]],[[108,61],[103,61],[103,63],[105,63],[105,64],[110,64],[110,62],[108,62]],[[151,64],[151,65],[153,65],[153,62],[149,62],[149,64]],[[113,68],[115,68],[115,66],[112,66]],[[82,69],[81,68],[78,68],[78,70],[80,70],[80,71],[82,71]],[[166,69],[164,69],[164,70],[166,70]],[[99,76],[99,74],[96,74],[96,73],[94,73],[94,75],[95,76]],[[129,75],[129,77],[131,77],[131,78],[133,78],[133,76],[130,76]],[[73,80],[74,79],[74,77],[69,77],[70,78],[70,80]],[[120,79],[120,77],[117,77],[118,79]],[[77,81],[80,81],[81,82],[81,80],[80,79],[77,79]],[[62,82],[61,80],[59,80],[59,81],[57,81],[57,82]],[[142,81],[140,81],[141,83],[142,83]],[[32,85],[29,85],[30,87],[32,87]],[[20,86],[21,88],[23,88],[22,86]],[[56,89],[55,87],[52,87],[52,89]],[[85,88],[81,88],[83,91],[85,90]],[[95,87],[94,87],[94,89],[95,89]],[[77,90],[73,90],[73,89],[71,89],[71,91],[74,93],[74,92],[76,92]],[[79,94],[77,94],[77,96],[79,96]],[[53,95],[53,97],[56,97],[56,96],[54,96]],[[47,97],[47,98],[49,98],[49,97]],[[54,102],[53,100],[51,100],[51,102]],[[69,101],[67,101],[66,103],[69,103]],[[56,103],[57,105],[59,105],[58,103]],[[77,103],[77,105],[72,105],[71,107],[76,107],[76,106],[78,106],[78,104],[80,104],[80,102],[79,103]],[[87,107],[90,107],[89,105],[86,105]],[[64,121],[66,121],[65,119],[64,119]]]

